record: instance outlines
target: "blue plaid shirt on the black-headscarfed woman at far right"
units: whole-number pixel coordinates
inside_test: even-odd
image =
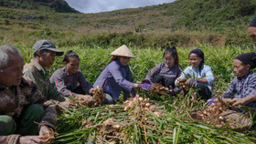
[[[246,77],[235,77],[228,90],[223,94],[231,94],[234,98],[246,98],[249,95],[256,97],[256,73],[249,72]],[[256,107],[256,101],[247,104],[249,107]]]

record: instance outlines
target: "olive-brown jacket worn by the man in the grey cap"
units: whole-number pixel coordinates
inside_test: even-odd
[[[48,73],[41,67],[35,59],[31,59],[29,64],[26,64],[23,70],[24,76],[29,77],[39,88],[41,93],[48,100],[65,101],[66,97],[54,87],[48,77]]]

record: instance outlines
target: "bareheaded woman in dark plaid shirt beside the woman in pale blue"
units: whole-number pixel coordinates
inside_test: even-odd
[[[174,96],[180,92],[178,88],[175,89],[175,81],[181,74],[176,47],[167,47],[163,57],[164,62],[152,68],[144,78],[144,82],[160,83],[164,87],[168,87],[171,90],[169,94]]]

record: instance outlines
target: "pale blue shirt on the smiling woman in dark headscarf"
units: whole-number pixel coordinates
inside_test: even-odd
[[[204,65],[201,73],[199,73],[199,67],[193,68],[193,67],[189,66],[184,70],[184,73],[187,75],[187,77],[195,76],[195,78],[206,78],[208,80],[207,86],[212,93],[211,86],[214,82],[214,77],[213,77],[212,70],[210,67],[208,67],[207,65]],[[179,78],[185,78],[186,76],[184,75],[184,73],[181,73]],[[177,82],[177,80],[176,80],[176,82]]]

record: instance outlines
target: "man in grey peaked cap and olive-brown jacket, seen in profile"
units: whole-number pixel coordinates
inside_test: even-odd
[[[51,85],[48,77],[47,69],[51,67],[55,61],[55,56],[63,55],[63,51],[56,48],[48,40],[39,40],[33,46],[34,58],[24,67],[24,75],[32,79],[40,89],[42,94],[61,106],[69,107],[69,98],[61,94],[56,87]]]

